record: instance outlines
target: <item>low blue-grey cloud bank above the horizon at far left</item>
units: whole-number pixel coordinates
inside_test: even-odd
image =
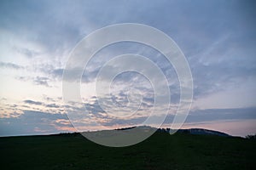
[[[67,122],[67,115],[24,111],[18,117],[0,119],[0,136],[69,132],[73,127]]]

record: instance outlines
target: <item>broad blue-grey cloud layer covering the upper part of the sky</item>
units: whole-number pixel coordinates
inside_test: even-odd
[[[253,39],[251,38],[255,33],[252,29],[255,26],[249,26],[250,22],[248,20],[248,16],[252,16],[254,13],[251,10],[248,12],[245,11],[245,7],[247,6],[245,3],[235,2],[232,5],[230,3],[219,5],[213,2],[197,2],[195,7],[191,7],[190,4],[184,2],[164,1],[150,3],[143,5],[143,7],[143,2],[123,3],[125,3],[126,13],[124,13],[124,7],[116,2],[111,3],[113,4],[112,8],[115,10],[110,10],[108,8],[110,4],[106,4],[106,10],[108,11],[106,13],[102,11],[102,7],[98,3],[88,4],[84,2],[82,3],[83,5],[78,5],[65,2],[61,4],[61,8],[58,10],[53,8],[56,3],[49,3],[48,1],[44,3],[25,2],[22,5],[19,2],[3,3],[2,12],[4,14],[2,16],[4,17],[2,17],[2,20],[4,18],[12,20],[3,20],[2,26],[12,28],[12,32],[20,32],[27,30],[27,22],[29,22],[29,26],[31,26],[29,31],[32,32],[32,37],[28,36],[29,39],[37,37],[37,42],[43,43],[46,49],[52,51],[52,54],[49,53],[49,56],[55,56],[53,60],[58,60],[58,62],[62,63],[63,61],[61,60],[65,60],[66,58],[56,59],[56,56],[62,56],[61,51],[63,53],[67,51],[65,48],[71,50],[75,43],[85,35],[83,32],[86,30],[85,27],[89,27],[89,30],[93,31],[94,28],[106,26],[109,23],[132,21],[155,26],[173,37],[189,59],[195,82],[195,99],[225,90],[225,87],[237,83],[241,84],[243,81],[240,80],[240,77],[252,77],[255,75],[255,65],[252,65],[252,63],[255,63],[253,57],[255,49],[252,46]],[[26,8],[31,6],[35,11],[27,12]],[[84,8],[82,9],[81,6],[85,7],[86,10]],[[137,6],[141,8],[138,9]],[[9,10],[11,7],[20,11],[20,17],[17,17],[16,13]],[[198,7],[201,8],[199,9]],[[218,8],[219,13],[216,13],[212,7]],[[230,7],[229,10],[225,10],[227,7]],[[48,13],[45,13],[46,9],[54,17],[49,19]],[[76,13],[73,13],[73,11],[76,11]],[[186,13],[183,13],[183,11],[186,11]],[[70,15],[63,15],[67,13]],[[104,16],[104,19],[96,18],[98,15]],[[63,16],[66,16],[65,20],[63,20]],[[247,18],[245,18],[246,16]],[[85,23],[84,18],[86,19]],[[62,20],[63,22],[58,22],[58,20]],[[87,22],[90,24],[87,24]],[[38,27],[38,23],[48,23],[47,26],[50,26],[50,28],[43,29],[44,26],[43,28],[42,26]],[[20,28],[20,26],[22,29],[15,29]],[[58,33],[55,30],[58,30]],[[28,35],[26,32],[19,34]],[[131,45],[131,43],[128,43],[128,45]],[[109,50],[103,49],[102,57],[95,59],[95,62],[90,65],[90,68],[94,69],[84,74],[82,82],[95,81],[97,71],[101,68],[104,61],[110,58],[109,56],[125,54],[126,52],[134,52],[146,56],[148,54],[151,55],[149,58],[159,63],[164,72],[166,74],[167,72],[169,73],[167,77],[173,80],[171,76],[175,75],[175,72],[170,71],[170,67],[164,69],[166,60],[162,57],[157,57],[154,50],[148,50],[145,47],[146,50],[138,50],[143,47],[138,44],[127,48],[128,45],[121,44],[116,47],[108,47]],[[116,51],[118,48],[119,50],[117,52],[110,53],[111,51]],[[22,48],[21,51],[28,56],[38,53],[37,50],[30,48]],[[55,52],[60,52],[60,54],[55,54]],[[99,62],[101,60],[102,62]],[[53,68],[50,70],[49,68],[44,68],[43,71],[47,74],[46,77],[51,77],[51,80],[47,81],[42,80],[42,78],[36,78],[33,82],[35,84],[49,86],[49,81],[54,81],[52,77],[58,77],[58,80],[61,80],[64,65],[61,65],[61,67],[52,66]],[[128,78],[123,77],[126,82]],[[175,88],[172,86],[174,90],[178,87],[178,82],[176,82],[175,86]]]

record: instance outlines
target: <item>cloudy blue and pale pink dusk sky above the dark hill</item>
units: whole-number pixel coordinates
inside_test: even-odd
[[[96,97],[97,73],[120,54],[146,56],[163,72],[172,104],[162,126],[170,127],[180,99],[177,74],[157,50],[136,42],[102,48],[84,69],[83,105],[63,102],[62,74],[73,48],[90,32],[121,23],[153,26],[172,37],[183,51],[194,83],[192,106],[183,128],[209,128],[238,136],[256,133],[254,8],[256,3],[242,0],[1,1],[0,136],[74,132],[67,111],[83,111],[84,107],[90,117],[73,123],[85,122],[88,130],[145,121],[154,103],[154,89],[137,72],[119,74],[111,94]],[[125,65],[141,63],[119,66]],[[109,112],[121,116],[108,115],[99,98]],[[131,111],[120,111],[123,105],[134,100],[130,109],[137,108],[137,99],[141,102],[137,114],[122,117]],[[163,107],[165,101],[157,109]]]

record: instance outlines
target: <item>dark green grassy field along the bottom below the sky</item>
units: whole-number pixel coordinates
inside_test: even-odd
[[[0,138],[0,169],[256,169],[256,140],[154,133],[110,148],[78,133]]]

